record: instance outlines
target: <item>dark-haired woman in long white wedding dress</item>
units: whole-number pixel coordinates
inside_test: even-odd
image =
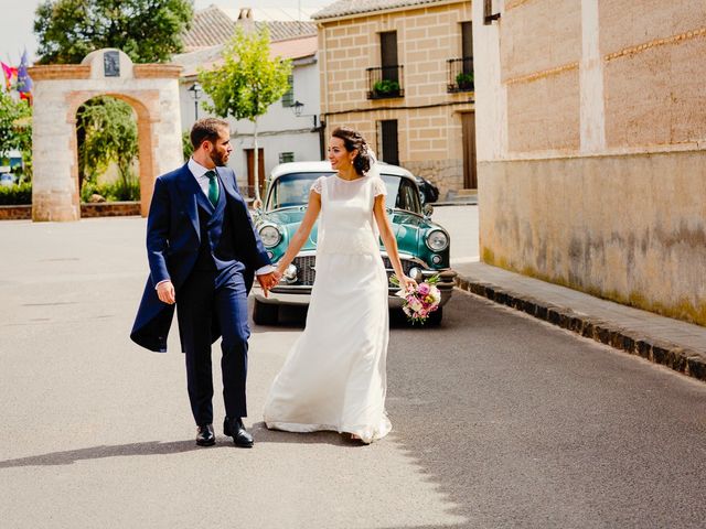
[[[336,128],[329,161],[338,173],[311,186],[307,213],[278,264],[284,273],[321,213],[307,325],[272,382],[264,415],[269,429],[333,430],[367,444],[392,430],[385,412],[387,274],[378,233],[400,282],[415,282],[403,273],[385,184],[365,139]]]

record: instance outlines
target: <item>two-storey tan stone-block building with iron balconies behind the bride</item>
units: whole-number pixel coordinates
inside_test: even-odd
[[[312,19],[327,131],[360,130],[441,197],[475,187],[471,2],[345,0]]]

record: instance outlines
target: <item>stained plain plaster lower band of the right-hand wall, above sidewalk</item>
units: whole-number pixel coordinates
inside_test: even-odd
[[[706,151],[479,163],[481,259],[706,325]]]

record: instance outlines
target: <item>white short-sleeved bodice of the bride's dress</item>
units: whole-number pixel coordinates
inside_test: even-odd
[[[317,253],[379,252],[373,204],[387,190],[377,175],[351,181],[338,175],[321,176],[311,188],[321,194]]]

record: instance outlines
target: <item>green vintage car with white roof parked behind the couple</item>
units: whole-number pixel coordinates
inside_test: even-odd
[[[378,163],[381,176],[387,186],[387,213],[397,238],[405,273],[419,282],[439,273],[437,287],[441,292],[441,306],[429,317],[429,323],[438,324],[443,315],[442,305],[451,298],[456,278],[456,272],[449,268],[449,234],[431,222],[430,205],[422,208],[415,176],[403,168]],[[256,229],[272,262],[281,259],[289,240],[299,228],[307,209],[311,184],[319,176],[333,174],[335,171],[329,162],[290,162],[272,170],[264,209],[254,214]],[[268,298],[265,298],[255,282],[255,323],[276,324],[279,305],[309,304],[315,276],[317,227],[318,224],[279,284],[270,290]],[[382,241],[379,248],[389,277],[394,270]],[[402,299],[394,295],[397,290],[397,287],[389,284],[388,299],[393,309],[402,306]]]

